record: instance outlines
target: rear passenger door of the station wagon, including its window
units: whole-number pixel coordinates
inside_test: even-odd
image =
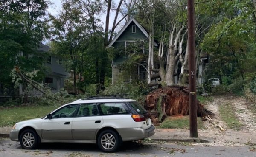
[[[77,117],[73,119],[74,140],[96,140],[96,131],[103,124],[97,104],[81,104]]]

